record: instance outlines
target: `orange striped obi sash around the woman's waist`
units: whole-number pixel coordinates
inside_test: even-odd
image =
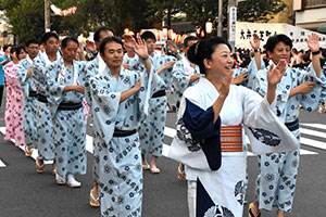
[[[221,151],[243,152],[242,126],[221,126]]]

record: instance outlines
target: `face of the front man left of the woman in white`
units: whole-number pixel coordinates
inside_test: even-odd
[[[111,41],[105,44],[103,61],[109,68],[116,68],[122,65],[124,59],[124,50],[122,44]]]

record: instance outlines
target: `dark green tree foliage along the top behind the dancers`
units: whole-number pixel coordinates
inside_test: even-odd
[[[77,7],[74,15],[66,17],[51,15],[51,29],[59,34],[78,35],[93,31],[99,26],[111,27],[116,35],[125,27],[139,31],[160,24],[164,18],[167,25],[175,14],[186,14],[186,20],[196,26],[203,26],[208,20],[215,22],[218,15],[217,0],[51,0],[57,7]],[[43,0],[0,0],[12,26],[11,33],[20,41],[29,37],[40,37],[45,31]],[[224,0],[226,17],[227,0]],[[247,0],[239,2],[239,21],[265,22],[286,7],[281,0]],[[226,25],[226,18],[224,20]]]

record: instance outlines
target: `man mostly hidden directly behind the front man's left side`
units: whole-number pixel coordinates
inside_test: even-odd
[[[98,28],[93,35],[93,41],[95,41],[95,50],[98,52],[100,49],[100,43],[101,41],[106,38],[106,37],[112,37],[114,36],[113,30],[111,28],[108,28],[105,26],[102,26]],[[88,42],[90,43],[90,42]],[[84,76],[85,76],[85,99],[87,101],[87,104],[89,106],[90,111],[90,120],[89,123],[92,123],[92,103],[91,103],[91,97],[90,97],[90,86],[89,86],[89,80],[91,77],[96,76],[99,74],[99,72],[102,72],[105,68],[105,63],[103,59],[101,58],[100,53],[98,52],[97,56],[92,60],[89,61],[85,68],[84,68]],[[93,129],[93,128],[92,128]],[[95,131],[92,132],[95,135]],[[93,173],[93,188],[90,190],[89,193],[89,204],[93,207],[99,207],[100,206],[100,201],[99,201],[99,153],[98,153],[98,148],[96,145],[96,142],[93,140],[93,167],[92,167],[92,173]]]

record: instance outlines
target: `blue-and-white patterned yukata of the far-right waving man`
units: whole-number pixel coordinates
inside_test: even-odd
[[[272,63],[269,63],[271,66]],[[256,73],[254,90],[261,95],[267,91],[266,75],[269,66]],[[306,81],[315,81],[313,91],[297,94],[289,99],[290,90]],[[325,87],[325,76],[316,77],[312,64],[308,71],[290,68],[277,85],[274,113],[287,126],[300,142],[299,105],[311,112],[318,105],[319,95]],[[290,152],[263,154],[259,156],[259,176],[256,182],[256,200],[260,209],[272,210],[273,206],[285,212],[291,212],[298,177],[300,148]]]

